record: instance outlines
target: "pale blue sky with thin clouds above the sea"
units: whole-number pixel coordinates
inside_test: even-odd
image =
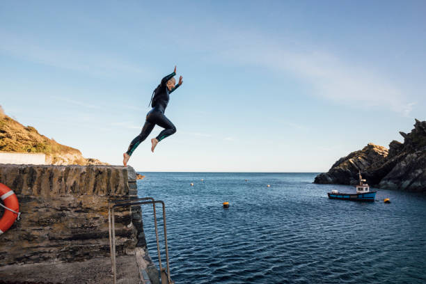
[[[1,1],[0,104],[121,164],[178,65],[178,132],[137,171],[327,171],[426,114],[426,1]],[[161,129],[156,127],[151,136]],[[150,138],[151,138],[150,136]]]

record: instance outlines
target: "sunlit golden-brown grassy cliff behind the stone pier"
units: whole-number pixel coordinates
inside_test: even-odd
[[[107,165],[97,159],[84,158],[79,150],[39,134],[34,127],[25,127],[6,116],[3,109],[0,109],[0,151],[45,153],[46,164]]]

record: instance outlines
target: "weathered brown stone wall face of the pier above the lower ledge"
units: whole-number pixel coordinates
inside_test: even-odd
[[[136,197],[136,173],[123,166],[0,165],[21,220],[0,236],[0,266],[109,256],[108,201]],[[0,210],[0,216],[3,210]],[[116,213],[118,254],[145,244],[141,210]]]

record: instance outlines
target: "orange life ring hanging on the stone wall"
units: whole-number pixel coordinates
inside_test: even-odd
[[[6,187],[5,184],[0,183],[0,198],[4,203],[4,214],[0,219],[0,235],[6,232],[15,220],[19,218],[19,203],[15,192]],[[1,204],[0,204],[1,205]]]

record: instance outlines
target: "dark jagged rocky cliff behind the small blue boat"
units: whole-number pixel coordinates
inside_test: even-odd
[[[363,150],[340,158],[327,173],[317,175],[314,182],[356,184],[361,171],[374,187],[426,192],[426,121],[416,119],[409,134],[400,134],[404,143],[392,141],[389,150],[369,143]]]

